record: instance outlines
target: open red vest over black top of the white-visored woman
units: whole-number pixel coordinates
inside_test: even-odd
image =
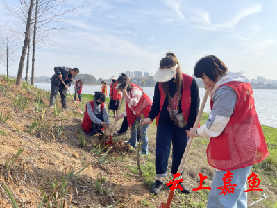
[[[192,85],[192,77],[182,73],[182,80],[183,80],[183,90],[182,90],[182,101],[181,107],[182,112],[185,118],[185,121],[188,121],[190,116],[190,103],[191,103],[191,95],[190,95],[190,86]],[[162,90],[162,83],[159,83],[160,89],[160,112],[162,111],[162,106],[165,103],[165,93]],[[158,126],[159,119],[160,119],[160,112],[158,116],[156,116],[156,125]]]

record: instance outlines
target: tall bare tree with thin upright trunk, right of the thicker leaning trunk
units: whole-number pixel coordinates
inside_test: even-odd
[[[18,6],[9,6],[6,2],[3,2],[3,8],[14,15],[20,21],[17,21],[17,26],[19,28],[20,34],[24,29],[22,25],[26,24],[27,12],[28,12],[28,3],[26,0],[18,0],[20,4]],[[65,31],[67,28],[67,15],[74,15],[83,8],[87,6],[79,6],[76,8],[69,8],[68,4],[71,3],[71,0],[35,0],[35,11],[32,17],[32,37],[31,48],[33,49],[32,57],[32,77],[31,83],[34,82],[35,75],[35,49],[37,46],[58,46],[55,42],[51,40],[51,37],[60,34],[62,31]],[[22,24],[24,22],[24,24]],[[27,72],[27,71],[26,71]]]

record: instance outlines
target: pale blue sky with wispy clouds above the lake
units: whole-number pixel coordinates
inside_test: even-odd
[[[212,54],[229,70],[277,80],[275,0],[72,1],[72,6],[81,5],[90,8],[69,17],[72,29],[54,37],[62,48],[37,49],[36,76],[51,76],[59,65],[78,67],[96,78],[142,68],[155,73],[169,49],[184,73],[193,73],[196,61]],[[0,8],[2,23],[11,18]],[[17,69],[15,62],[10,74]],[[0,73],[5,73],[3,66]]]

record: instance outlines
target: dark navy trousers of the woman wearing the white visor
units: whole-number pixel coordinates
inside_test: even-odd
[[[186,128],[178,128],[173,121],[158,123],[156,136],[156,177],[167,176],[167,164],[172,141],[172,167],[171,173],[178,171],[179,164],[187,147]]]

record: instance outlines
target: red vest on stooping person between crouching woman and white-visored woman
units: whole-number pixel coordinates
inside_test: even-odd
[[[135,85],[134,83],[130,83],[130,84],[131,84],[131,87],[137,87],[142,91],[142,89],[139,86]],[[130,97],[132,98],[132,94]],[[143,103],[142,103],[142,98],[143,98]],[[152,101],[149,98],[149,96],[147,96],[145,93],[143,93],[142,98],[140,98],[140,101],[137,103],[137,106],[132,105],[132,108],[136,114],[134,114],[131,108],[128,106],[128,104],[126,104],[128,125],[133,125],[133,123],[135,122],[135,119],[137,119],[137,116],[142,117],[142,114],[144,118],[147,118],[149,116],[149,112],[152,106]]]

